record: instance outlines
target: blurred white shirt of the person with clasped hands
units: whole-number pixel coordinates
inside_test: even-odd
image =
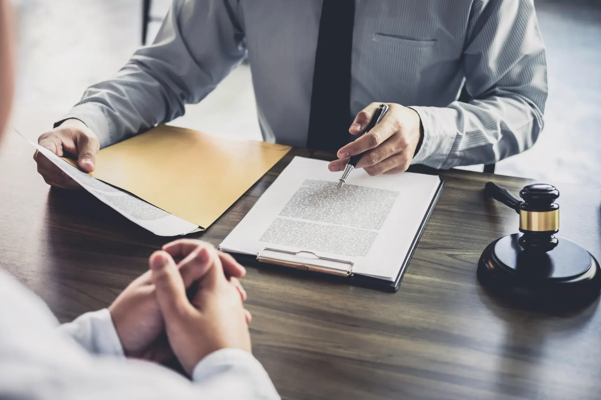
[[[40,298],[0,270],[0,398],[279,399],[246,351],[209,354],[189,381],[155,363],[126,359],[108,309],[57,326]]]

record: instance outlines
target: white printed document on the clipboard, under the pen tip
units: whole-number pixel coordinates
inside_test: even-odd
[[[352,263],[353,274],[395,281],[440,178],[356,169],[337,189],[340,175],[326,161],[295,157],[219,248],[299,252],[269,257],[341,270]]]

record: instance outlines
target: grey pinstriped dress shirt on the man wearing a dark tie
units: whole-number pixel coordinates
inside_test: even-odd
[[[547,82],[532,0],[355,4],[352,116],[372,102],[412,107],[424,127],[413,163],[434,168],[495,163],[534,144]],[[305,146],[321,9],[322,0],[175,0],[154,44],[90,86],[63,121],[81,119],[111,145],[183,115],[248,55],[263,138]]]

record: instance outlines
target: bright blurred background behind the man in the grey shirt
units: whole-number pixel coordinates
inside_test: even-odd
[[[528,0],[523,0],[528,1]],[[29,139],[111,77],[141,46],[143,0],[13,0],[17,89],[13,126]],[[148,43],[169,8],[152,0]],[[535,0],[547,47],[549,99],[534,148],[501,161],[496,173],[541,181],[601,184],[601,1]],[[261,139],[251,71],[240,65],[173,125]],[[482,170],[481,166],[469,169]]]

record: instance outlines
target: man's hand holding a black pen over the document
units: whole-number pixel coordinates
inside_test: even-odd
[[[361,110],[349,132],[353,135],[364,133],[380,104],[371,103]],[[388,112],[379,124],[338,150],[339,159],[328,165],[329,170],[343,171],[349,158],[361,153],[364,154],[356,167],[364,168],[371,176],[403,172],[409,168],[423,140],[421,119],[413,109],[395,103],[386,104]]]

